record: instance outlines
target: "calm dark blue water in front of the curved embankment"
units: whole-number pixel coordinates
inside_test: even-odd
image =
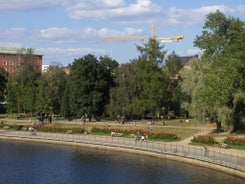
[[[0,141],[2,184],[239,184],[244,180],[166,159],[92,148]]]

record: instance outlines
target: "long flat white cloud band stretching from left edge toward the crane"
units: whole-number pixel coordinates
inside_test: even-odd
[[[138,28],[124,28],[122,31],[87,27],[85,29],[72,29],[68,27],[50,27],[41,30],[27,30],[25,28],[0,29],[0,39],[4,40],[32,40],[43,43],[80,43],[100,42],[106,36],[139,35],[143,32]]]

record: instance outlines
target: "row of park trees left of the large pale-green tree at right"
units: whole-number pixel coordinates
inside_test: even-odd
[[[154,53],[148,47],[154,47]],[[174,77],[182,68],[180,58],[172,53],[163,66],[166,51],[155,39],[138,50],[141,56],[126,64],[85,55],[74,60],[69,74],[60,66],[40,74],[33,70],[30,53],[21,70],[8,77],[8,113],[48,112],[89,119],[154,118],[168,110],[178,114],[179,79]]]

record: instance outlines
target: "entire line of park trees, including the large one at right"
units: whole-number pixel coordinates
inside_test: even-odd
[[[74,60],[69,75],[59,66],[40,75],[30,54],[19,73],[7,82],[0,78],[1,91],[6,84],[9,113],[47,111],[99,119],[154,118],[173,111],[215,122],[218,129],[245,129],[244,25],[219,11],[208,14],[194,40],[203,55],[185,67],[174,52],[166,56],[155,38],[137,46],[139,57],[129,63],[88,54]]]

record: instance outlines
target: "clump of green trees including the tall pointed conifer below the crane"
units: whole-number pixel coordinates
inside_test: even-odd
[[[144,46],[137,46],[140,56],[115,70],[116,86],[110,91],[108,112],[111,117],[155,117],[166,99],[165,75],[160,64],[166,51],[151,38]]]

